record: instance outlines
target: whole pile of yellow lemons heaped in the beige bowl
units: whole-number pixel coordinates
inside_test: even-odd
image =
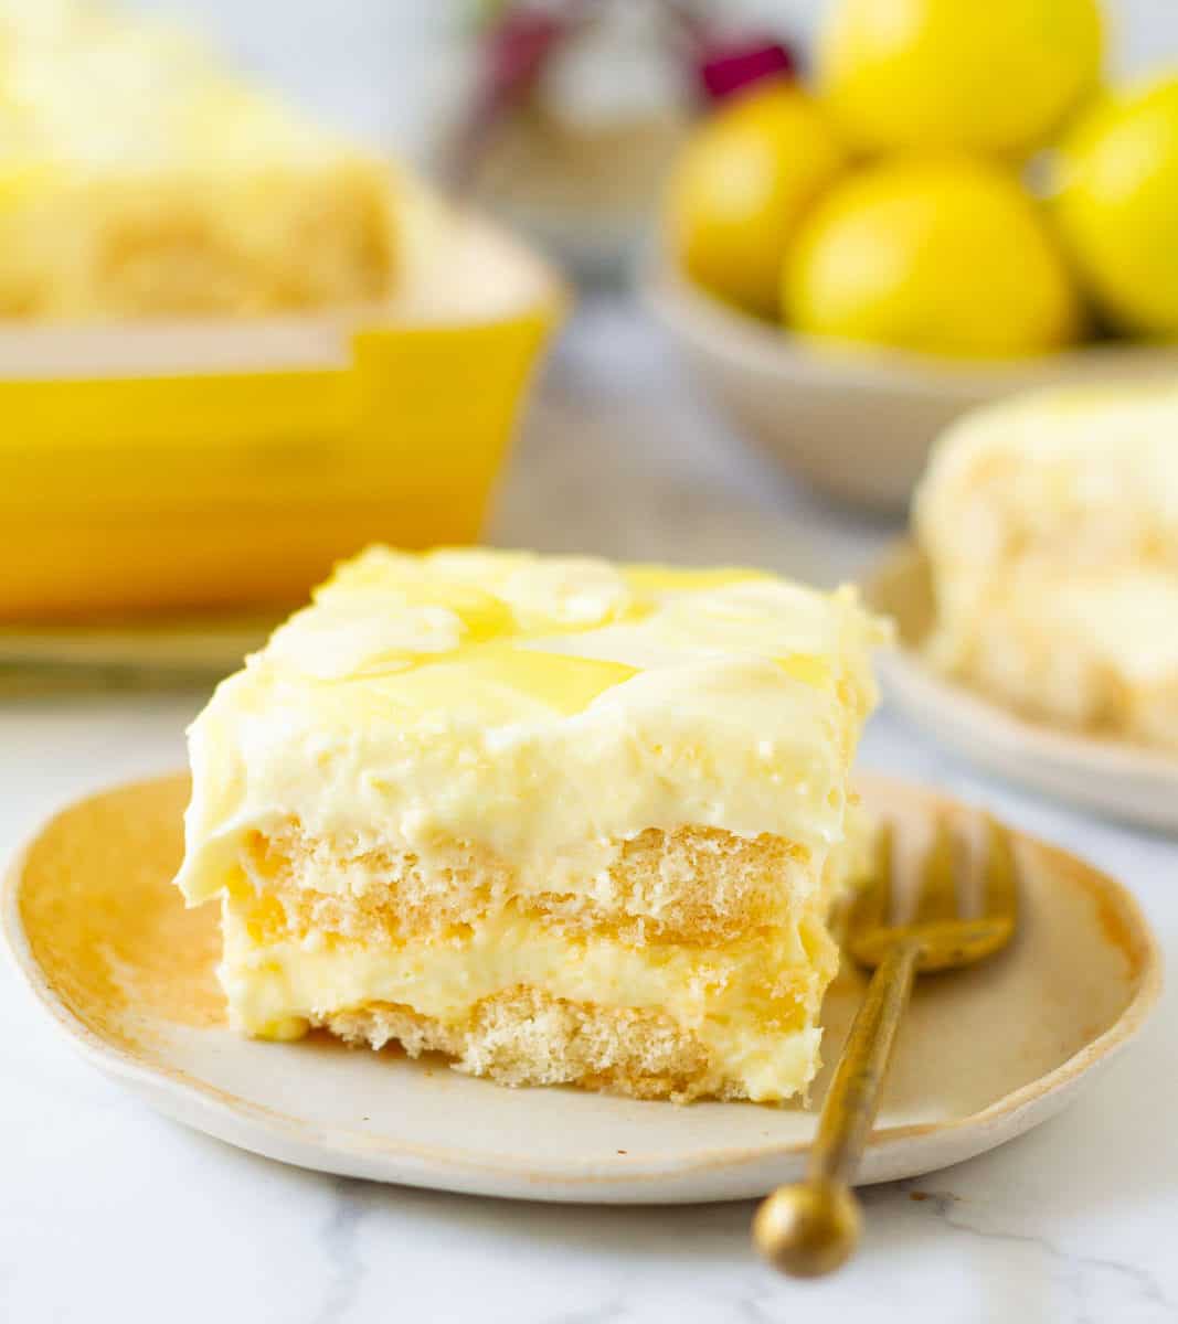
[[[1102,89],[1102,46],[1097,0],[830,0],[812,86],[754,85],[689,142],[674,254],[814,336],[1178,336],[1178,78]]]

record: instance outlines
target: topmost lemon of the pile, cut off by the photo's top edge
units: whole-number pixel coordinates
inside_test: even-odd
[[[837,0],[818,81],[856,147],[1020,154],[1096,85],[1097,0]]]

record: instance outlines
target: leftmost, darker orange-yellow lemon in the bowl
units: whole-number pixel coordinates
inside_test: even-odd
[[[739,97],[705,120],[672,173],[667,222],[680,265],[721,298],[776,316],[790,234],[844,159],[799,87]]]

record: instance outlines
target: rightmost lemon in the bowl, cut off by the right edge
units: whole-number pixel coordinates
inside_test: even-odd
[[[1095,107],[1057,179],[1060,232],[1109,320],[1178,335],[1178,78]]]

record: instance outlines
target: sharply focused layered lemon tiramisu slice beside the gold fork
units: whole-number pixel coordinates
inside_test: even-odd
[[[376,548],[191,731],[245,1033],[778,1100],[818,1064],[877,628],[751,571]]]

